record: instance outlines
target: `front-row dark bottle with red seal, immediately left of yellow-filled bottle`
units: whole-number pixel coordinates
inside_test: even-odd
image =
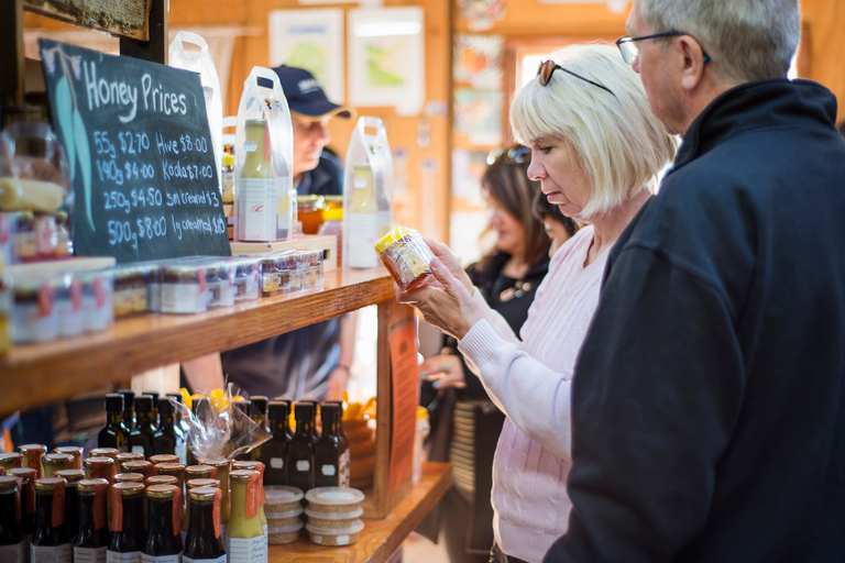
[[[227,563],[220,523],[222,492],[197,487],[190,490],[188,534],[185,538],[183,563]]]

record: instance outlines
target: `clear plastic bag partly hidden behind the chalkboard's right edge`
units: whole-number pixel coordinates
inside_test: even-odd
[[[186,48],[186,45],[196,45],[199,47],[199,52]],[[208,44],[196,33],[180,31],[171,43],[168,56],[169,66],[199,74],[199,81],[206,98],[208,128],[211,130],[211,145],[215,151],[215,163],[217,163],[218,183],[220,183],[220,167],[223,157],[223,99],[220,95],[217,67],[208,52]]]

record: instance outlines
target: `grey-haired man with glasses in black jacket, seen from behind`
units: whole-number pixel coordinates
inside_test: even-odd
[[[619,47],[683,145],[608,262],[546,561],[845,560],[845,140],[786,79],[799,25],[634,0]]]

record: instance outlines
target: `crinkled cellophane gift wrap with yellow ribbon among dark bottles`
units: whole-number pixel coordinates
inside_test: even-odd
[[[188,428],[188,444],[197,460],[233,460],[263,444],[272,434],[233,404],[232,384],[226,391],[200,394],[194,410],[171,399],[174,409]],[[195,396],[196,397],[196,396]],[[198,398],[195,398],[196,402]]]

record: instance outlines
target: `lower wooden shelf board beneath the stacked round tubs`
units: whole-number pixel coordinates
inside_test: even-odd
[[[414,485],[396,507],[383,520],[364,519],[364,530],[358,543],[347,548],[327,548],[311,543],[306,532],[299,541],[288,545],[271,545],[270,563],[380,563],[387,561],[403,540],[437,505],[451,486],[452,475],[448,463],[426,463],[422,478]]]

